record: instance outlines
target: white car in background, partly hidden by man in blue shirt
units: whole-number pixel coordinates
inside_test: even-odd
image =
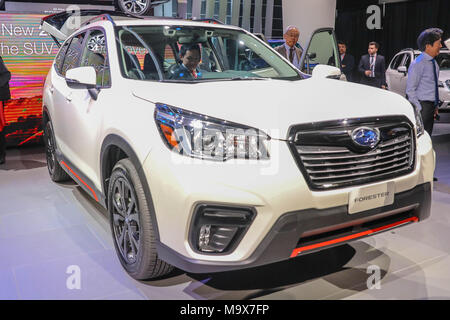
[[[392,58],[386,69],[386,82],[390,91],[406,96],[408,69],[422,52],[414,49],[403,49]],[[450,110],[450,50],[441,49],[436,57],[439,64],[439,110]]]

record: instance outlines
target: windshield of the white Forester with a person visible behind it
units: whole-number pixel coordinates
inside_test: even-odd
[[[300,80],[298,70],[239,30],[192,26],[117,27],[123,76],[146,81]]]

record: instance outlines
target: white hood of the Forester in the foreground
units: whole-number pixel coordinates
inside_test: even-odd
[[[346,81],[131,81],[136,97],[254,127],[274,139],[286,139],[289,128],[302,123],[384,115],[415,122],[411,104],[400,95]]]

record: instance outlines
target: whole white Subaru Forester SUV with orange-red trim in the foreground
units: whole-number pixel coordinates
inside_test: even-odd
[[[238,27],[96,14],[42,21],[61,43],[44,87],[48,171],[107,208],[132,277],[260,266],[430,215],[420,116],[334,80],[332,29],[312,35],[308,75]],[[197,77],[180,72],[186,47]]]

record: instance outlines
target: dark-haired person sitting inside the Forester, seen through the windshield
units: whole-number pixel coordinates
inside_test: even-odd
[[[180,48],[181,64],[170,72],[170,79],[192,80],[201,78],[202,73],[198,65],[202,59],[200,46],[195,44],[184,44]]]

